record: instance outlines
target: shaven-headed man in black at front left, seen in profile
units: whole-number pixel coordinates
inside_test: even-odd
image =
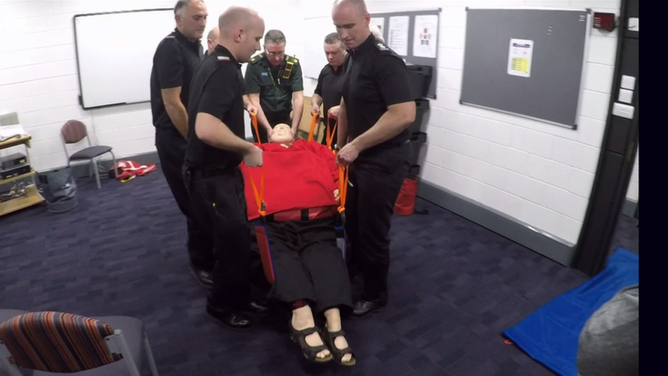
[[[245,140],[241,64],[260,49],[264,21],[253,10],[231,7],[218,28],[218,43],[192,81],[183,179],[214,242],[207,313],[226,327],[247,329],[248,314],[266,307],[251,301],[251,228],[240,164],[261,166],[262,151]]]

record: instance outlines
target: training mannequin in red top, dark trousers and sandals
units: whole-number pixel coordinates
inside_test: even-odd
[[[242,166],[248,220],[260,217],[255,187],[264,173],[266,232],[274,281],[270,296],[292,308],[290,331],[313,362],[335,360],[352,366],[341,325],[341,310],[352,309],[350,279],[336,244],[339,170],[331,149],[316,141],[294,140],[290,125],[274,127],[263,149],[263,167]],[[308,219],[307,219],[308,218]],[[314,313],[326,324],[322,336]]]

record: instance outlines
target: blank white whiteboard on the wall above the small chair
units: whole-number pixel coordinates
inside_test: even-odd
[[[173,9],[74,17],[81,105],[151,101],[153,53],[175,29]]]

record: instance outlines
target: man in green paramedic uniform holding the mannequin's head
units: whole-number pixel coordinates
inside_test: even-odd
[[[260,134],[251,127],[255,142],[258,136],[261,142],[268,142],[279,123],[290,124],[296,136],[304,112],[302,68],[296,58],[285,55],[285,34],[280,30],[265,34],[264,52],[246,66],[244,104],[248,112],[257,113]]]

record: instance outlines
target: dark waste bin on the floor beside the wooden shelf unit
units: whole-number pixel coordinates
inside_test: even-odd
[[[68,212],[79,204],[77,183],[72,175],[71,166],[40,173],[37,179],[49,212]]]

